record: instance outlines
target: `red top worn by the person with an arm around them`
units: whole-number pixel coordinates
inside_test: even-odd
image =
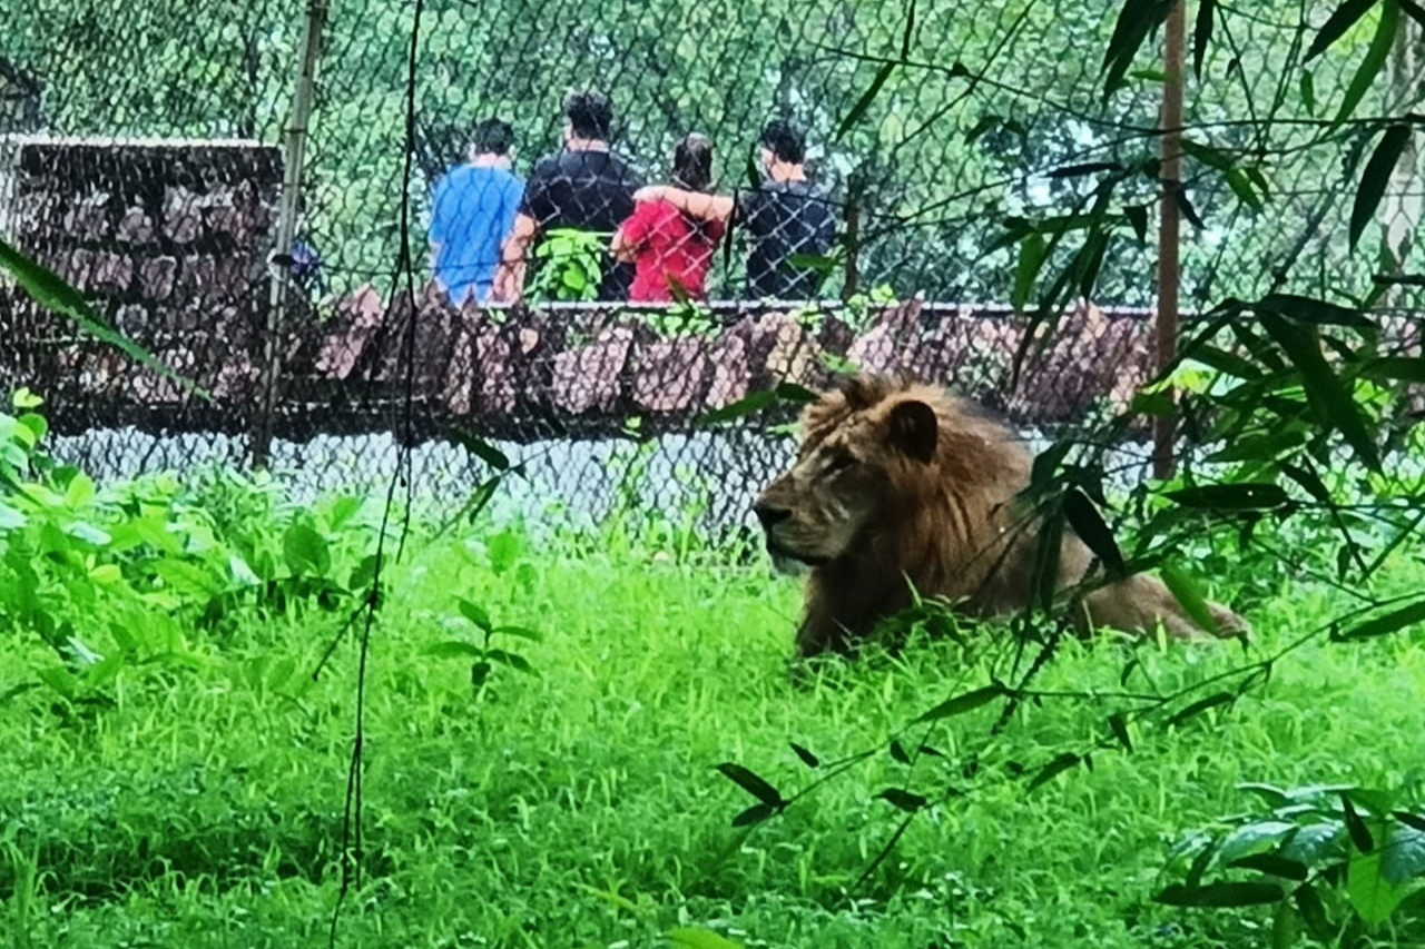
[[[671,302],[668,278],[688,296],[703,299],[712,254],[722,239],[722,221],[705,221],[703,232],[667,201],[640,201],[618,228],[634,249],[634,279],[628,299],[640,304]]]

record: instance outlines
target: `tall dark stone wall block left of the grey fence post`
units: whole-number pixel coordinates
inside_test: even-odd
[[[281,180],[281,152],[255,142],[4,135],[0,235],[242,412],[256,385]],[[95,420],[187,402],[6,286],[3,338],[11,355],[0,352],[0,382],[90,406]]]

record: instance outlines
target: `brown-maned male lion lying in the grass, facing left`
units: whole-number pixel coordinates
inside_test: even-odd
[[[807,567],[797,653],[851,653],[881,620],[922,597],[996,617],[1030,600],[1037,524],[1017,499],[1032,457],[978,405],[909,380],[854,376],[807,406],[792,467],[754,513],[782,573]],[[1077,586],[1093,554],[1064,531],[1056,590]],[[1173,637],[1197,626],[1161,580],[1136,574],[1083,598],[1079,631]],[[1208,603],[1220,636],[1248,627]]]

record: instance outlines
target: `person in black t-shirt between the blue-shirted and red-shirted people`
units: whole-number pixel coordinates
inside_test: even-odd
[[[608,100],[598,93],[574,93],[564,100],[564,150],[540,158],[524,182],[494,276],[496,299],[520,299],[540,234],[556,228],[613,234],[633,214],[633,192],[643,185],[643,175],[608,148]],[[606,254],[601,271],[598,299],[627,299],[633,266]]]

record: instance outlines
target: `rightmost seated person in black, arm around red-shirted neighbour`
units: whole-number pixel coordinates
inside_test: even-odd
[[[836,218],[826,195],[807,178],[807,140],[785,120],[774,120],[760,138],[765,180],[737,201],[671,185],[640,188],[634,201],[664,201],[704,221],[738,224],[751,235],[747,295],[752,299],[811,299],[821,274],[797,266],[797,255],[825,255],[836,238]]]

